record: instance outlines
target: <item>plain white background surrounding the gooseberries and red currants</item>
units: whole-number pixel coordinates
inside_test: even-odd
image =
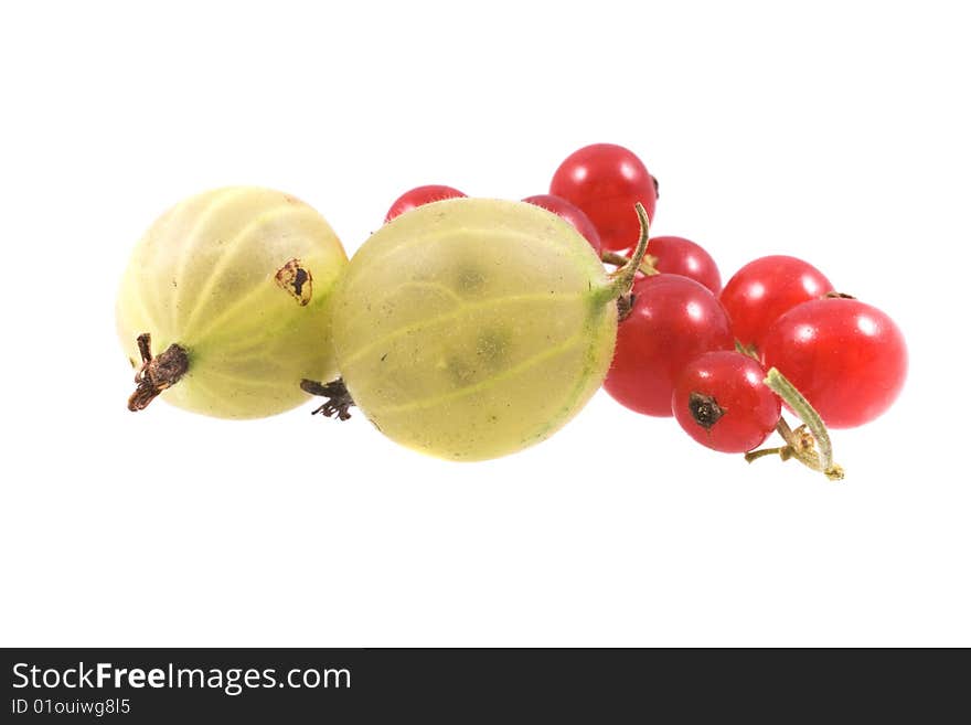
[[[7,646],[971,644],[960,3],[4,3]],[[847,471],[703,449],[599,394],[447,463],[363,419],[125,401],[128,253],[277,186],[349,250],[405,189],[546,191],[612,141],[723,276],[802,256],[911,352]]]

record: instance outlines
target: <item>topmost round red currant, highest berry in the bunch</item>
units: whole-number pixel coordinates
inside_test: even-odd
[[[553,174],[549,193],[579,206],[597,227],[602,247],[613,252],[637,242],[634,202],[653,218],[658,201],[643,162],[613,143],[594,143],[569,154]]]

